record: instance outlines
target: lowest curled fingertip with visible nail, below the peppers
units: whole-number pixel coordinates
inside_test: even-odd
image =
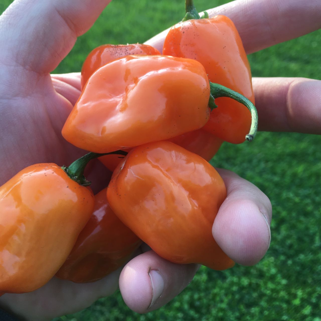
[[[183,291],[197,269],[198,265],[171,263],[148,251],[127,263],[119,277],[119,289],[129,308],[146,313]]]

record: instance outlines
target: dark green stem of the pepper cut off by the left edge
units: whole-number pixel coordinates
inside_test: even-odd
[[[86,178],[83,175],[83,172],[84,172],[85,167],[88,164],[88,162],[92,159],[97,158],[97,157],[104,156],[104,155],[112,155],[112,154],[126,156],[128,153],[121,151],[121,150],[115,151],[115,152],[103,153],[103,154],[90,152],[90,153],[82,156],[81,158],[75,160],[73,163],[70,164],[69,167],[62,166],[61,168],[66,172],[66,174],[71,179],[73,179],[79,185],[89,186],[91,184],[91,182],[86,180]]]

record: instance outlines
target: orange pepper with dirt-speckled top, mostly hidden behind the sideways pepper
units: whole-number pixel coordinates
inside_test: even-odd
[[[102,45],[91,51],[82,65],[81,88],[95,70],[108,62],[128,55],[160,55],[160,52],[149,45],[140,43],[130,45]]]

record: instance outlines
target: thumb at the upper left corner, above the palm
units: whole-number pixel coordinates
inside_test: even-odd
[[[53,71],[110,1],[14,1],[0,17],[0,63],[37,74]]]

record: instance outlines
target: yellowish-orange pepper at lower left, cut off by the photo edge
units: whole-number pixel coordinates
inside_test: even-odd
[[[0,187],[0,291],[47,283],[89,220],[94,196],[53,163],[29,166]]]

